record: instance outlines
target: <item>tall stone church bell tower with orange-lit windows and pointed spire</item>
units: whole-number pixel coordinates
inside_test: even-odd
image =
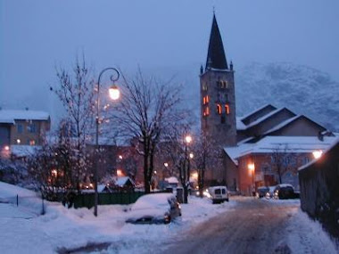
[[[233,64],[227,65],[218,23],[213,14],[206,65],[200,70],[201,127],[221,147],[236,145],[236,94]]]

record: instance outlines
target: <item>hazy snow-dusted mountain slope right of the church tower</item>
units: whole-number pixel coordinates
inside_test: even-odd
[[[244,115],[272,103],[339,129],[339,83],[307,66],[252,63],[236,71],[236,111]]]

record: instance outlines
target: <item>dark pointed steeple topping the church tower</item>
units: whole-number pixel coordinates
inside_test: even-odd
[[[222,39],[219,32],[219,27],[215,14],[213,13],[213,22],[211,28],[211,37],[209,52],[207,54],[206,60],[206,70],[207,69],[218,69],[218,70],[227,70],[227,60],[224,51],[224,45],[222,44]]]

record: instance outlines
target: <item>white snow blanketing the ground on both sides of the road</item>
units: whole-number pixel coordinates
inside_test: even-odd
[[[23,201],[20,199],[19,207],[12,203],[16,193],[27,197]],[[183,216],[177,223],[128,225],[125,223],[128,212],[124,211],[128,206],[120,205],[100,206],[99,216],[94,217],[93,209],[65,209],[59,203],[46,202],[46,214],[39,216],[41,200],[34,195],[0,182],[0,253],[55,253],[76,250],[91,243],[110,243],[108,250],[102,253],[154,252],[154,245],[159,246],[219,213],[234,210],[241,201],[237,198],[212,205],[207,199],[192,197],[189,204],[182,205]],[[290,225],[288,242],[292,250],[305,250],[295,253],[307,253],[313,237],[321,238],[327,245],[327,253],[335,253],[334,244],[320,225],[310,221],[302,212],[298,212],[295,222]],[[301,227],[307,232],[303,238],[298,234]]]

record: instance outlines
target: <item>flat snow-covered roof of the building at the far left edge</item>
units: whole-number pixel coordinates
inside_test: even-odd
[[[45,111],[14,111],[0,110],[0,123],[15,123],[15,120],[48,120],[49,114]]]

